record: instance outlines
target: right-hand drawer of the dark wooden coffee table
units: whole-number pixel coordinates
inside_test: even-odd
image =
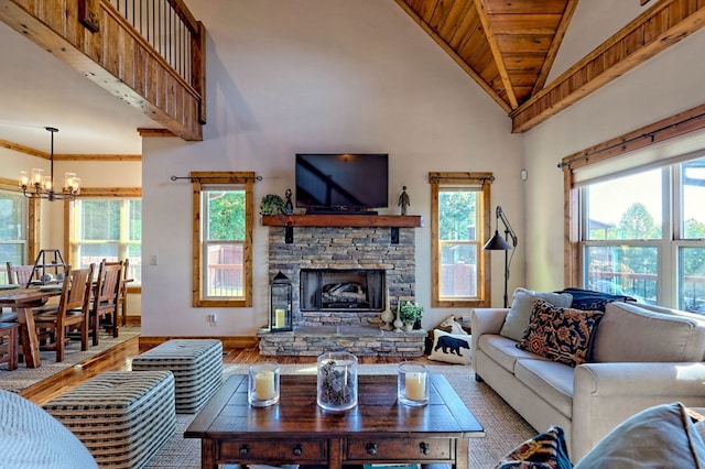
[[[347,459],[452,459],[452,448],[448,438],[354,438],[347,444]]]

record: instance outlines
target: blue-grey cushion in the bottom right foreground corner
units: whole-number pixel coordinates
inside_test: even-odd
[[[575,469],[703,468],[705,443],[680,402],[647,408],[608,433]]]

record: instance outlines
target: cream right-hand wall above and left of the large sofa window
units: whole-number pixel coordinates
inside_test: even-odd
[[[527,284],[563,287],[563,173],[570,154],[705,102],[701,30],[525,134]],[[577,285],[568,285],[577,286]]]

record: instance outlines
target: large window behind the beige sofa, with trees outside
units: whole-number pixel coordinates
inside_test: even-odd
[[[583,285],[705,314],[705,157],[581,187]]]

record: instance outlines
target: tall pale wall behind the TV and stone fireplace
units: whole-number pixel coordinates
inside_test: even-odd
[[[390,208],[406,185],[416,230],[416,297],[431,310],[432,171],[491,171],[492,205],[520,238],[522,135],[489,96],[392,1],[191,1],[208,31],[208,124],[203,142],[143,139],[142,331],[145,336],[251,336],[267,324],[267,234],[254,228],[254,306],[192,308],[191,171],[254,171],[257,205],[293,188],[296,152],[390,154]],[[524,283],[525,248],[512,286]],[[503,257],[492,258],[494,304],[501,304]],[[207,315],[217,313],[218,327]],[[465,312],[467,314],[467,312]]]

